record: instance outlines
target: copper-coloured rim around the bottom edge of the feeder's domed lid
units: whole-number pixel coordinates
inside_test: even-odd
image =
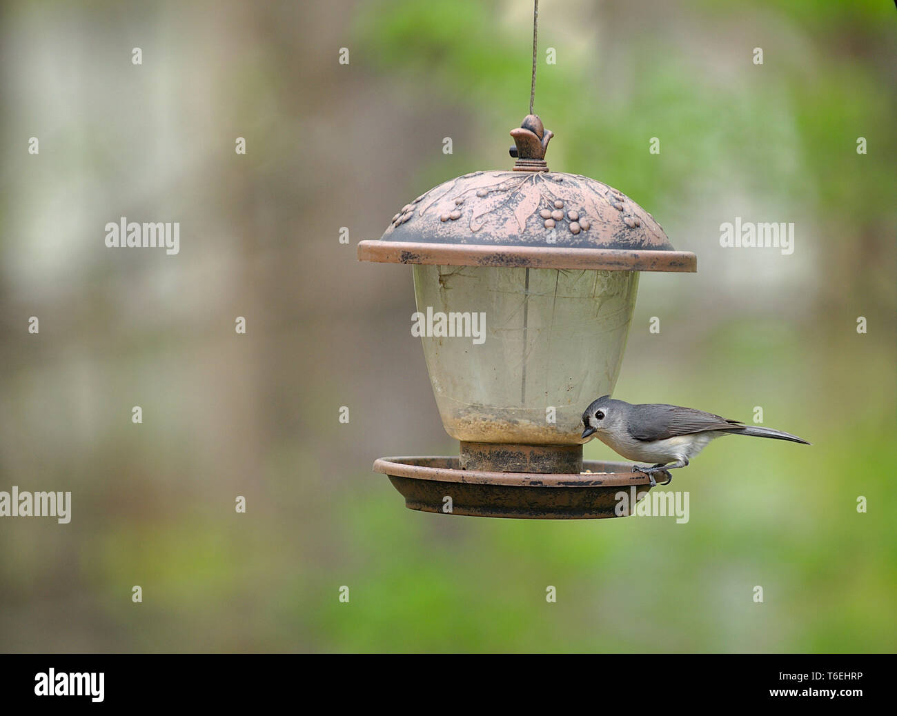
[[[691,251],[572,249],[417,241],[359,241],[358,260],[386,264],[669,271],[685,274],[693,274],[698,270],[698,257]]]

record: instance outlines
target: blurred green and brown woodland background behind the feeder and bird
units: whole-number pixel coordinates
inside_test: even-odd
[[[814,443],[715,442],[684,525],[423,514],[370,472],[457,443],[411,270],[355,244],[509,168],[528,0],[0,12],[0,490],[73,493],[68,525],[0,519],[0,650],[894,651],[893,4],[542,0],[552,168],[699,256],[641,277],[615,397]],[[179,255],[106,249],[119,216]],[[794,254],[720,248],[736,216]]]

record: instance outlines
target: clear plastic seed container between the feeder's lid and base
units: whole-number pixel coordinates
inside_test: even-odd
[[[459,441],[573,445],[614,389],[639,275],[414,266],[413,330],[442,424]]]

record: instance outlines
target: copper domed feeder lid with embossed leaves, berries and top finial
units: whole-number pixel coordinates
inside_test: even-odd
[[[693,272],[647,211],[579,174],[550,171],[536,115],[511,130],[511,171],[475,171],[406,204],[358,258],[403,264]]]

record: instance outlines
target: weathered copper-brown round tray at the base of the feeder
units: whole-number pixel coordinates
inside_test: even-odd
[[[405,507],[475,517],[514,517],[527,520],[592,520],[625,517],[634,502],[618,499],[621,491],[636,498],[648,494],[649,477],[633,473],[631,463],[585,460],[591,474],[464,470],[459,458],[379,458],[374,472],[405,497]],[[666,471],[655,477],[658,485],[670,479]],[[451,511],[448,511],[451,498]],[[618,510],[618,505],[623,504]]]

